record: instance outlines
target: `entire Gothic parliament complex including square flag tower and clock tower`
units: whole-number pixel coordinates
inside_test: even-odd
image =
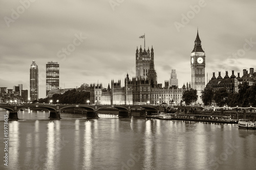
[[[159,105],[165,103],[169,105],[174,102],[176,105],[182,101],[182,94],[185,90],[196,89],[198,96],[201,95],[205,87],[205,53],[201,46],[201,40],[197,32],[194,50],[190,55],[191,84],[183,84],[178,87],[176,70],[173,69],[169,80],[164,81],[164,85],[157,83],[157,72],[154,63],[154,49],[136,49],[136,76],[130,78],[129,74],[124,78],[124,85],[121,80],[111,81],[108,88],[103,88],[102,84],[90,85],[90,103],[102,105],[131,105],[131,104],[151,104]],[[200,97],[197,103],[200,102]]]

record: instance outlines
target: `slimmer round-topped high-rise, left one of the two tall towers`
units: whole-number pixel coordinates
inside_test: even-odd
[[[30,66],[30,101],[38,100],[38,66],[32,61]]]

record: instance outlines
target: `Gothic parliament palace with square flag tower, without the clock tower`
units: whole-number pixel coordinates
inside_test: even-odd
[[[151,51],[136,50],[136,77],[130,79],[127,74],[124,79],[124,85],[121,86],[121,80],[114,82],[108,88],[103,88],[102,84],[90,85],[90,103],[102,105],[132,105],[132,104],[151,104],[160,105],[166,103],[169,105],[170,101],[180,104],[182,94],[185,90],[191,88],[183,85],[178,87],[178,79],[176,70],[172,70],[171,79],[172,85],[169,81],[162,84],[157,84],[157,74],[154,65],[154,50]]]

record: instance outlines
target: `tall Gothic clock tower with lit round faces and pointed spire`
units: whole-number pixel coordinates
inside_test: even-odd
[[[200,96],[205,87],[205,53],[203,51],[198,30],[195,40],[194,50],[190,55],[191,64],[191,88],[197,90],[198,100],[196,103],[202,103]]]

